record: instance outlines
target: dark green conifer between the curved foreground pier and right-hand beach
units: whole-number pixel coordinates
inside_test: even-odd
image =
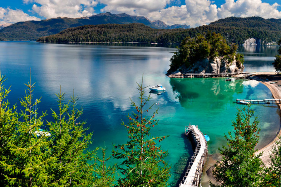
[[[215,164],[214,177],[222,186],[259,186],[261,181],[262,153],[255,155],[255,146],[259,140],[259,121],[257,117],[250,122],[254,112],[247,108],[238,108],[236,121],[232,122],[234,134],[225,135],[227,146],[219,148],[222,160]],[[212,186],[217,186],[211,184]]]

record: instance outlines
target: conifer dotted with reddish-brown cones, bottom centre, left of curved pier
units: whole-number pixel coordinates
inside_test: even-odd
[[[153,116],[146,117],[152,106],[146,107],[150,99],[144,98],[145,89],[143,82],[138,84],[140,93],[140,103],[137,105],[131,100],[131,104],[136,112],[128,115],[128,124],[122,123],[128,131],[126,144],[115,146],[112,151],[114,158],[122,160],[118,169],[121,171],[121,178],[118,180],[118,186],[167,186],[169,179],[170,166],[163,159],[168,155],[167,151],[162,151],[161,146],[157,146],[155,141],[162,141],[166,137],[150,137],[150,130],[158,121],[154,119],[157,110]]]

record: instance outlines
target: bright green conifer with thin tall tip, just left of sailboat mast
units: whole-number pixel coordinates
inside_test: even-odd
[[[35,117],[37,111],[34,110],[34,106],[40,103],[40,99],[37,99],[36,103],[33,101],[34,84],[31,84],[30,76],[30,81],[25,84],[27,86],[25,97],[20,99],[24,110],[21,110],[16,132],[8,142],[11,156],[1,162],[7,173],[4,175],[7,186],[47,185],[47,137],[44,133],[42,136],[37,136],[45,113]]]

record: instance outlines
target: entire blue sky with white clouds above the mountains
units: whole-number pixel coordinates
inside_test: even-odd
[[[281,0],[0,0],[0,24],[102,12],[195,27],[231,16],[281,18]]]

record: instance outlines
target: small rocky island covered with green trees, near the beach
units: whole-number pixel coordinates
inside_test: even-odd
[[[170,59],[169,77],[185,77],[184,74],[228,74],[244,70],[244,56],[237,53],[238,45],[228,44],[221,34],[208,32],[186,37]]]

